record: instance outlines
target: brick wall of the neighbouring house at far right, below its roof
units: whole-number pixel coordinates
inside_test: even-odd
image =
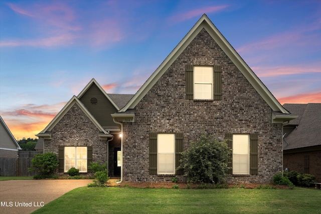
[[[321,182],[321,150],[296,152],[283,155],[283,166],[290,171],[294,170],[304,173],[304,156],[309,156],[309,174],[315,176],[318,182]]]

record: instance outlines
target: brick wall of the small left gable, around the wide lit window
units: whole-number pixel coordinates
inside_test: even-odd
[[[58,156],[58,146],[92,146],[93,161],[107,161],[107,140],[99,139],[99,130],[74,104],[51,131],[52,139],[45,139],[44,152]]]

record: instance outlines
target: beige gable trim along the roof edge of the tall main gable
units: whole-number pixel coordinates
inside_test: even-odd
[[[164,60],[164,62],[156,69],[156,71],[147,79],[147,81],[141,86],[137,93],[131,98],[131,100],[121,108],[118,113],[125,112],[128,109],[134,109],[139,101],[147,94],[152,86],[162,77],[167,69],[173,64],[173,62],[180,56],[180,54],[186,49],[186,47],[193,41],[193,39],[200,33],[202,29],[205,29],[225,54],[231,59],[235,66],[242,72],[245,78],[255,88],[255,90],[261,95],[265,102],[273,110],[273,122],[283,123],[284,121],[296,118],[291,115],[282,105],[275,99],[266,86],[260,81],[260,79],[254,74],[229,42],[223,37],[219,30],[204,14],[201,19],[194,25],[189,33],[183,38],[183,40],[176,46],[176,48],[170,53],[170,55]],[[116,114],[114,116],[117,116]],[[120,114],[118,114],[120,116]]]

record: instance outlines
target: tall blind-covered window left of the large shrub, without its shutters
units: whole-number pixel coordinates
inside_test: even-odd
[[[157,174],[175,174],[175,134],[157,134]]]

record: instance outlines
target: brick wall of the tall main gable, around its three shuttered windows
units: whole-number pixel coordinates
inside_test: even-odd
[[[222,100],[185,99],[187,64],[222,67]],[[205,130],[222,140],[225,133],[258,133],[258,175],[236,177],[243,182],[270,182],[282,170],[282,124],[271,121],[271,108],[203,29],[137,104],[135,122],[124,123],[123,180],[171,181],[173,175],[149,174],[150,132],[184,133],[187,149],[188,142]]]

